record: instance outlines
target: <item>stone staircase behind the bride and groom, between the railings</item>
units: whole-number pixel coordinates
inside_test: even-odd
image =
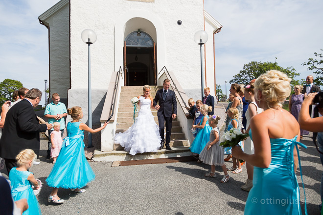
[[[162,86],[151,86],[150,88],[151,96],[155,98],[157,90],[161,88]],[[122,86],[121,87],[116,133],[124,132],[133,125],[134,122],[132,121],[132,119],[134,114],[134,107],[131,104],[130,100],[133,97],[135,96],[137,97],[138,95],[142,95],[142,94],[143,94],[142,86]],[[152,111],[152,114],[155,116],[155,122],[158,125],[157,110],[151,109],[151,111]],[[185,133],[183,133],[180,122],[177,121],[177,119],[173,120],[173,123],[172,123],[171,142],[169,143],[169,145],[170,147],[189,146],[189,143],[185,138]],[[115,144],[114,149],[116,151],[123,150],[120,144]]]

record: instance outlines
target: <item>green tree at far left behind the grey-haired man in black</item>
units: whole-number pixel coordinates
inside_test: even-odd
[[[12,79],[5,79],[0,83],[0,106],[5,101],[12,100],[12,94],[16,89],[23,87],[23,84],[19,81]]]

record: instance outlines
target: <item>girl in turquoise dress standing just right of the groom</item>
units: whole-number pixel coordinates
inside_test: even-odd
[[[196,154],[200,154],[207,145],[209,141],[209,136],[212,128],[208,125],[208,112],[212,111],[212,107],[208,105],[201,106],[201,113],[203,114],[203,119],[200,125],[193,125],[193,129],[200,129],[192,143],[189,147],[190,151]]]

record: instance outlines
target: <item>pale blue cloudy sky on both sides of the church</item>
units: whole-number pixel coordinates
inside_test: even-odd
[[[58,1],[0,1],[0,82],[9,78],[45,89],[48,30],[38,16]],[[322,0],[205,0],[205,9],[223,25],[215,35],[216,80],[223,91],[225,80],[251,61],[277,57],[280,66],[295,67],[299,78],[312,74],[301,64],[323,49]]]

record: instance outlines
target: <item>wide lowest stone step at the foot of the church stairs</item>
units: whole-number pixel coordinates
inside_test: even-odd
[[[128,151],[97,151],[93,153],[94,161],[126,161],[126,160],[145,160],[166,157],[184,157],[191,156],[188,146],[173,147],[172,150],[159,150],[157,152],[146,152],[142,154],[131,155]]]

